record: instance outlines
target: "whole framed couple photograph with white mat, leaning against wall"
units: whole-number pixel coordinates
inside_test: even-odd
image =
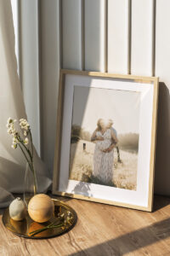
[[[60,70],[53,193],[152,210],[158,78]]]

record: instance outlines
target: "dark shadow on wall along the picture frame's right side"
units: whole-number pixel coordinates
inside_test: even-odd
[[[164,83],[159,89],[155,193],[170,195],[170,96]]]

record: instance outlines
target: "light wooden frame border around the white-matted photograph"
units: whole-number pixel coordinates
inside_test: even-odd
[[[92,77],[113,78],[113,79],[131,79],[139,82],[143,81],[144,83],[153,83],[154,96],[153,96],[152,132],[151,132],[151,148],[150,148],[150,179],[149,179],[148,207],[140,207],[140,206],[135,206],[133,204],[126,204],[126,203],[116,202],[116,201],[107,201],[107,200],[102,200],[102,199],[84,196],[84,195],[60,192],[57,190],[57,187],[59,185],[60,143],[61,143],[61,131],[62,131],[63,100],[64,100],[64,90],[65,90],[64,82],[65,82],[66,74],[87,75]],[[55,153],[54,153],[53,194],[81,199],[85,201],[94,201],[94,202],[105,203],[105,204],[114,205],[118,207],[127,207],[127,208],[137,209],[141,211],[151,212],[153,210],[153,195],[154,195],[158,91],[159,91],[159,79],[156,77],[144,77],[144,76],[134,76],[129,74],[124,75],[124,74],[60,69],[58,110],[57,110],[57,129],[56,129],[56,143],[55,143]]]

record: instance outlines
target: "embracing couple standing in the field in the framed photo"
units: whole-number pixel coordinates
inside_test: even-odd
[[[91,141],[95,141],[94,149],[94,177],[102,183],[112,183],[113,180],[113,157],[114,147],[118,142],[116,135],[111,129],[113,122],[104,119],[98,120],[98,127],[94,131]]]

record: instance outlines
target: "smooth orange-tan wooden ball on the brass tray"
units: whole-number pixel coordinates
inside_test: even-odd
[[[48,195],[34,195],[28,204],[28,213],[34,221],[46,222],[54,216],[54,202]]]

